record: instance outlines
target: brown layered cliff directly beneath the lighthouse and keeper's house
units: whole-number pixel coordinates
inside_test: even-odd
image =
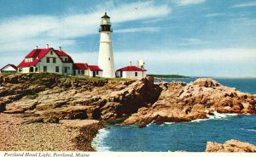
[[[16,74],[0,76],[0,112],[19,114],[26,122],[70,119],[115,120],[154,104],[161,88],[152,77],[141,80]]]

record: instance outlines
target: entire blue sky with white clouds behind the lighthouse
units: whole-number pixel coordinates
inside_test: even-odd
[[[0,0],[0,68],[45,44],[97,64],[105,12],[116,70],[144,59],[148,74],[256,76],[255,0]]]

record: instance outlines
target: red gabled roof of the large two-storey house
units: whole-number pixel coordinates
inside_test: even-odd
[[[18,65],[18,67],[26,67],[26,66],[35,66],[38,64],[38,61],[43,59],[44,56],[49,53],[50,50],[53,50],[58,56],[65,56],[68,57],[68,61],[62,61],[62,62],[68,62],[73,63],[73,59],[65,52],[55,50],[54,48],[44,48],[44,49],[33,49],[32,52],[28,53],[25,57],[26,58],[34,58],[32,62],[25,62],[25,59],[22,60],[22,62]]]

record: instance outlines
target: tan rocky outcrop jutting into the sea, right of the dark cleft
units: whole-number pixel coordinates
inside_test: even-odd
[[[163,86],[163,85],[161,85]],[[164,88],[163,88],[164,89]],[[256,98],[212,79],[191,83],[171,82],[152,106],[143,107],[123,122],[147,125],[150,122],[192,121],[218,113],[255,114]]]

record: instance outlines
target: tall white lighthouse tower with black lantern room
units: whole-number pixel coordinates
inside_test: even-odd
[[[98,65],[103,70],[103,77],[113,78],[115,77],[111,40],[111,33],[113,32],[113,30],[111,28],[110,17],[107,15],[107,13],[102,16],[99,32],[101,33],[101,39]]]

